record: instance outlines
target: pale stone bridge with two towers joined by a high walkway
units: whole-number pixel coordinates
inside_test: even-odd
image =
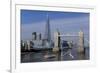
[[[61,37],[71,37],[71,36],[77,36],[79,37],[78,39],[78,48],[77,51],[79,53],[84,52],[84,33],[82,31],[79,31],[78,34],[60,34],[60,32],[55,32],[54,33],[54,48],[53,51],[57,52],[60,50],[60,42],[61,42]]]

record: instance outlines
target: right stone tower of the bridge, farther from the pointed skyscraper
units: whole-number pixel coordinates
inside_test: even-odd
[[[79,48],[78,53],[84,53],[84,33],[82,31],[79,32]]]

